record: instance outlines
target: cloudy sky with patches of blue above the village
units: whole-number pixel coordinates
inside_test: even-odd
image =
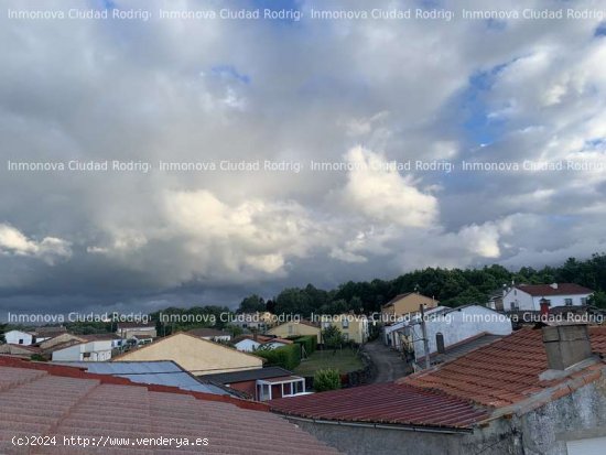
[[[152,15],[10,17],[71,8]],[[242,8],[303,15],[158,18]],[[454,17],[311,19],[372,8]],[[486,8],[0,0],[0,311],[235,307],[309,282],[606,251],[606,9],[504,1],[509,14],[462,18]],[[528,8],[585,17],[511,17]],[[108,171],[10,167],[106,161]]]

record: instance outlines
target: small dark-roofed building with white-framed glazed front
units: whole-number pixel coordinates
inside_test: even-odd
[[[246,392],[257,401],[305,393],[305,378],[293,376],[292,371],[280,367],[206,375],[203,378]]]

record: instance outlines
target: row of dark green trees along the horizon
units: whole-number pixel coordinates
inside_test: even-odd
[[[294,313],[309,316],[378,312],[381,305],[396,295],[419,291],[437,299],[443,305],[458,306],[468,303],[486,303],[489,296],[509,283],[576,283],[596,291],[593,304],[606,307],[606,254],[594,254],[587,260],[570,258],[560,267],[545,266],[540,270],[522,267],[517,271],[502,266],[481,269],[426,268],[404,273],[393,280],[349,281],[337,289],[325,291],[307,284],[289,288],[271,300],[253,294],[240,303],[238,312]]]

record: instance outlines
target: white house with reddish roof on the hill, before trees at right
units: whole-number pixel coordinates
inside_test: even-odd
[[[541,311],[541,301],[548,306],[587,305],[591,289],[574,283],[517,284],[502,297],[505,311]]]

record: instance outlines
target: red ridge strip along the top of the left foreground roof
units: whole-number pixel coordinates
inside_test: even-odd
[[[75,379],[93,379],[99,381],[99,383],[113,384],[113,386],[134,386],[144,387],[150,392],[166,392],[176,394],[192,396],[197,400],[205,401],[220,401],[225,403],[234,404],[240,409],[253,410],[253,411],[269,411],[269,407],[258,401],[240,400],[229,396],[218,396],[214,393],[196,392],[192,390],[183,390],[177,387],[171,386],[158,386],[145,384],[140,382],[132,382],[127,378],[119,378],[111,375],[98,375],[94,372],[85,371],[84,367],[67,367],[64,365],[52,365],[42,361],[24,360],[17,357],[0,356],[0,367],[9,368],[24,368],[31,370],[46,371],[51,376],[75,378]]]

